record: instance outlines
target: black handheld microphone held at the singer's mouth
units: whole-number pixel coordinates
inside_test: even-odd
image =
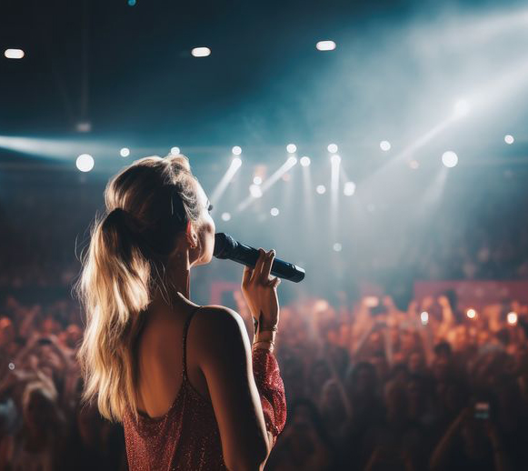
[[[232,236],[220,232],[214,235],[213,255],[216,258],[229,258],[229,260],[254,268],[259,252],[256,248],[245,246],[234,240]],[[304,273],[304,268],[284,262],[284,260],[281,260],[280,258],[274,259],[271,270],[273,276],[294,281],[294,283],[303,281]]]

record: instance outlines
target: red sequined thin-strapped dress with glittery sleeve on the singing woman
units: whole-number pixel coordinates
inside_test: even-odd
[[[226,469],[220,432],[212,404],[189,383],[185,344],[189,323],[184,326],[182,386],[164,416],[150,417],[138,411],[136,422],[128,411],[123,420],[126,456],[131,471],[214,471]],[[262,348],[253,350],[254,380],[264,411],[266,428],[278,436],[286,421],[284,384],[277,360]]]

